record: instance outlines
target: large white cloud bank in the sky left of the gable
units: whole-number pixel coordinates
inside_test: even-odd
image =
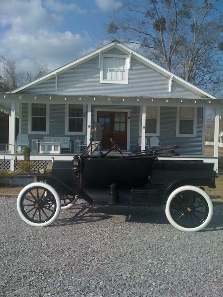
[[[1,0],[0,54],[16,60],[20,71],[30,71],[35,60],[54,70],[93,50],[87,32],[56,31],[62,21],[40,0]]]

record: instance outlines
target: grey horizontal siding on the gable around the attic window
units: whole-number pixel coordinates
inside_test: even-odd
[[[109,50],[108,53],[113,53]],[[78,96],[121,96],[202,99],[193,91],[172,82],[169,92],[169,78],[156,70],[131,58],[128,84],[100,83],[98,56],[58,75],[58,89],[55,77],[39,83],[24,94],[59,94]]]

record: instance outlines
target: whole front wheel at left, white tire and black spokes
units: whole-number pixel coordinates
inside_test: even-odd
[[[18,195],[18,213],[31,226],[51,224],[58,217],[60,208],[58,193],[46,183],[29,184]]]

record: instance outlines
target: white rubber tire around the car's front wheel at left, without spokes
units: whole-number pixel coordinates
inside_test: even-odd
[[[49,190],[53,195],[54,195],[54,198],[56,200],[56,211],[55,211],[55,214],[54,216],[49,219],[47,222],[44,222],[44,223],[35,223],[35,222],[31,222],[29,221],[29,219],[27,219],[24,214],[22,213],[22,210],[21,210],[21,206],[20,206],[20,203],[21,203],[21,199],[23,197],[23,194],[30,188],[32,187],[44,187],[45,189]],[[59,198],[59,195],[58,193],[56,192],[56,190],[51,187],[49,184],[46,184],[46,183],[43,183],[43,182],[34,182],[32,184],[28,184],[26,187],[24,187],[21,192],[19,193],[18,195],[18,199],[17,199],[17,210],[18,210],[18,213],[21,217],[21,219],[23,219],[24,222],[26,222],[27,224],[31,225],[31,226],[36,226],[36,227],[44,227],[44,226],[48,226],[50,225],[52,222],[54,222],[56,220],[56,218],[58,217],[59,213],[60,213],[60,209],[61,209],[61,203],[60,203],[60,198]]]

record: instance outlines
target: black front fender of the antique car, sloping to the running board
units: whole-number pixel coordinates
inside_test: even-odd
[[[32,176],[39,176],[41,178],[51,178],[55,181],[57,181],[59,184],[61,184],[63,187],[65,187],[67,190],[69,190],[70,192],[73,193],[73,195],[77,195],[80,198],[82,198],[83,200],[85,200],[87,203],[92,204],[94,202],[94,200],[92,198],[90,198],[81,188],[79,185],[75,184],[75,183],[68,183],[67,181],[58,178],[57,176],[53,175],[53,174],[44,174],[44,173],[36,173],[36,174],[32,174]]]

